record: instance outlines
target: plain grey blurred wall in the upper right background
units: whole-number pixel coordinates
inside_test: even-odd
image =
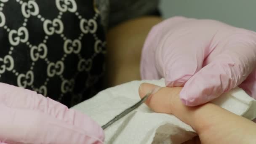
[[[256,0],[162,0],[163,17],[216,19],[256,31]]]

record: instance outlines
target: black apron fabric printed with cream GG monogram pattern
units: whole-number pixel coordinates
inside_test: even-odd
[[[0,82],[71,107],[102,88],[105,37],[93,0],[0,0]]]

